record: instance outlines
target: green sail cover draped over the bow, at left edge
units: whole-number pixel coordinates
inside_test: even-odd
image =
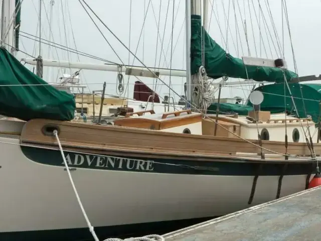
[[[0,114],[24,121],[74,118],[74,96],[48,85],[4,48],[0,48],[0,73]]]

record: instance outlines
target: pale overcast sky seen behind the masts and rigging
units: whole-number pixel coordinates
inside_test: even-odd
[[[120,61],[114,54],[112,48],[109,47],[106,40],[102,37],[101,33],[95,27],[78,0],[54,0],[51,25],[49,25],[50,0],[42,0],[42,2],[42,38],[49,40],[49,33],[52,32],[52,41],[55,43],[68,46],[70,48],[77,48],[79,51],[83,51],[109,61],[116,63],[121,63],[122,61],[123,63],[128,64],[128,51],[126,51],[126,49],[110,34],[110,32],[100,24],[95,17],[93,17],[99,29],[120,57]],[[113,33],[127,47],[129,47],[130,0],[87,0],[86,2],[108,26],[108,28],[110,28]],[[248,56],[249,53],[247,50],[248,48],[243,25],[243,21],[246,19],[246,32],[251,56],[273,59],[281,57],[277,50],[275,32],[273,31],[269,11],[266,7],[267,2],[270,6],[270,13],[273,16],[273,21],[282,49],[282,36],[284,36],[284,53],[288,68],[290,70],[294,70],[291,42],[289,39],[284,12],[282,15],[281,0],[210,0],[210,6],[208,9],[208,21],[210,24],[209,34],[218,44],[233,56]],[[319,41],[320,33],[318,31],[319,26],[321,26],[321,19],[319,18],[321,2],[320,0],[287,0],[284,2],[286,2],[287,5],[291,39],[298,67],[298,74],[300,76],[312,74],[318,75],[320,74],[319,66],[321,64],[321,60],[319,58],[319,55],[321,54]],[[136,51],[144,15],[147,13],[144,30],[142,32],[143,34],[141,35],[136,52],[137,57],[147,66],[170,67],[173,3],[175,3],[175,24],[173,35],[173,49],[175,49],[175,51],[172,57],[172,68],[185,69],[185,1],[132,0],[130,49],[133,52]],[[261,10],[258,3],[261,6]],[[284,20],[283,34],[282,17]],[[39,36],[38,0],[24,0],[21,19],[21,31]],[[159,56],[162,51],[162,44],[161,41],[159,41],[159,38],[158,43],[156,42],[158,19],[160,19],[159,37],[161,38],[161,41],[163,41],[164,38],[163,51],[165,53],[167,52],[166,63],[168,66],[166,66],[163,55],[159,60]],[[227,26],[229,28],[227,28]],[[26,34],[22,33],[22,35]],[[21,36],[20,40],[21,50],[33,56],[38,56],[38,43],[24,36]],[[155,57],[156,49],[157,57]],[[43,58],[49,57],[48,45],[41,45],[41,53]],[[78,56],[74,53],[67,54],[66,51],[55,48],[52,48],[52,53],[53,56],[51,56],[51,59],[78,61]],[[26,55],[19,53],[18,58],[22,57],[26,57]],[[79,58],[82,62],[102,63],[99,60],[90,59],[84,56],[79,56]],[[131,55],[130,64],[132,64],[132,61],[133,56]],[[141,64],[135,60],[134,65]],[[70,73],[69,69],[60,70],[59,77],[63,71]],[[53,71],[54,79],[50,79],[48,76],[48,68],[45,68],[44,72],[45,80],[56,81],[58,74],[57,69]],[[88,84],[90,90],[101,89],[102,83],[106,81],[108,83],[107,93],[115,94],[116,73],[84,70],[81,77],[82,83]],[[164,78],[163,76],[162,79],[167,83],[170,81],[169,77]],[[125,83],[127,80],[128,77],[124,76]],[[136,80],[137,79],[133,76],[129,79],[129,97],[132,97],[133,83]],[[152,87],[153,79],[142,78],[141,80]],[[171,81],[173,88],[180,94],[183,94],[182,83],[186,80],[183,78],[172,77]],[[250,87],[244,86],[225,88],[223,96],[244,96],[248,94],[249,89]],[[169,90],[165,86],[159,85],[156,88],[156,92],[161,96],[164,96],[169,92]]]

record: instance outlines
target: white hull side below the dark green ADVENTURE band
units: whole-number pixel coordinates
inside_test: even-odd
[[[18,139],[0,142],[0,233],[86,227],[64,167],[27,159]],[[81,168],[72,176],[93,226],[220,216],[247,208],[253,183],[253,176]],[[281,196],[304,190],[305,178],[284,176]],[[275,199],[277,185],[278,176],[260,176],[252,205]]]

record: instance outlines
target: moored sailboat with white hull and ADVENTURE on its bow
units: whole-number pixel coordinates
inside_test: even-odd
[[[186,3],[190,53],[205,30],[195,7],[201,1]],[[304,139],[308,131],[318,131],[314,122],[261,111],[259,92],[252,95],[255,109],[249,116],[203,118],[196,112],[192,80],[202,77],[206,83],[207,71],[198,64],[194,70],[200,72],[193,72],[198,55],[187,58],[187,109],[145,110],[149,115],[136,112],[105,126],[71,122],[74,96],[48,85],[11,51],[0,49],[0,113],[22,121],[0,119],[1,240],[90,237],[67,170],[102,238],[220,216],[289,195],[307,188],[316,170],[318,135],[308,140],[313,146]],[[291,74],[276,66],[269,70],[285,78]],[[280,141],[286,132],[292,139]]]

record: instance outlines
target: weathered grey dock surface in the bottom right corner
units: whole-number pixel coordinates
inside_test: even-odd
[[[321,187],[164,235],[166,241],[321,240]]]

